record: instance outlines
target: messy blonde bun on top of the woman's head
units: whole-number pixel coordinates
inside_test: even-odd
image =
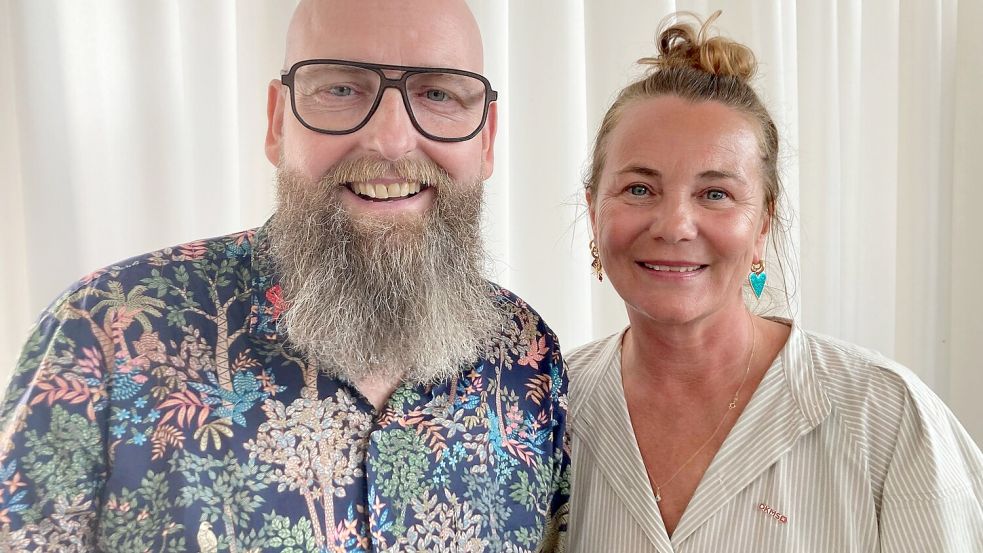
[[[706,21],[690,12],[670,15],[659,25],[659,55],[642,58],[638,63],[652,66],[653,71],[688,68],[720,77],[751,80],[758,68],[751,49],[710,34],[711,25],[721,13],[717,10]],[[698,25],[681,21],[684,18],[692,18]]]

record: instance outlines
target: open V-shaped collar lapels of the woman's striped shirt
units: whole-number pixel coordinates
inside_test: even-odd
[[[593,397],[585,400],[589,405],[584,405],[583,423],[591,433],[586,444],[592,446],[589,448],[597,457],[604,478],[659,551],[671,552],[679,547],[824,418],[812,412],[816,409],[803,408],[803,402],[811,405],[821,399],[815,397],[816,394],[822,394],[817,383],[810,381],[815,375],[804,367],[789,366],[801,356],[798,350],[808,347],[801,330],[795,324],[791,326],[786,344],[765,371],[741,415],[715,452],[672,536],[666,531],[662,512],[655,501],[624,395],[621,346],[627,328],[609,338],[604,352],[598,357],[598,366],[593,368],[596,373],[584,374],[585,379],[595,383],[590,393]],[[808,374],[799,374],[804,370]],[[810,390],[806,393],[808,397],[799,397],[797,390],[803,387]],[[605,411],[603,415],[602,410]],[[605,422],[604,416],[614,420]],[[600,428],[608,433],[598,432]],[[758,440],[763,444],[762,448],[747,447],[748,439]],[[613,466],[627,469],[619,472]]]

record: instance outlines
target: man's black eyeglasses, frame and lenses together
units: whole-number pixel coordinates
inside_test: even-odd
[[[390,79],[384,71],[402,71]],[[324,134],[353,133],[369,122],[388,88],[399,90],[413,127],[440,142],[473,138],[498,99],[488,79],[470,71],[305,60],[280,75],[297,120]]]

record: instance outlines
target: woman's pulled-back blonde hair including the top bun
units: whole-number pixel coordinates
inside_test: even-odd
[[[781,182],[778,177],[778,130],[768,110],[749,82],[757,71],[751,50],[738,42],[711,35],[711,25],[720,17],[716,11],[706,21],[692,13],[670,15],[659,26],[658,55],[642,58],[649,66],[646,75],[621,89],[608,108],[594,140],[591,165],[584,187],[594,195],[606,162],[611,131],[618,126],[625,108],[638,100],[678,96],[692,102],[719,102],[746,115],[758,127],[765,207],[776,222]],[[692,18],[698,27],[682,22]],[[774,228],[774,225],[773,227]]]

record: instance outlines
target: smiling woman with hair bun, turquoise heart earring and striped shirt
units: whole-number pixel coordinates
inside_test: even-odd
[[[667,20],[594,143],[594,268],[629,324],[566,356],[572,549],[983,550],[983,453],[946,405],[877,352],[752,314],[784,232],[779,140],[719,15]]]

